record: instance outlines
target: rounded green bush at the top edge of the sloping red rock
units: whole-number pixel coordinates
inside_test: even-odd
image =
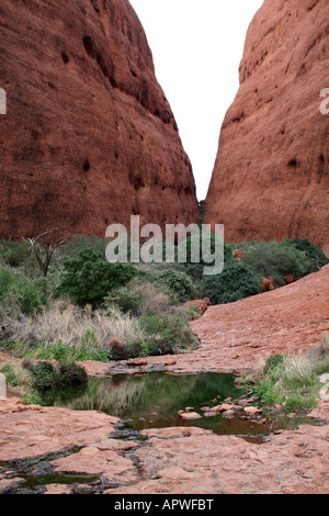
[[[261,291],[260,276],[243,262],[228,262],[222,274],[204,277],[202,288],[215,304],[232,303]]]

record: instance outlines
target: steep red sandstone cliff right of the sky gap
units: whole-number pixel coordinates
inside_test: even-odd
[[[248,31],[204,206],[226,239],[308,238],[329,253],[327,0],[265,0]]]

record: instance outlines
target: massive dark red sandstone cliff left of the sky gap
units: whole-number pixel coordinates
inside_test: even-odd
[[[196,222],[192,167],[127,0],[0,5],[0,237]]]

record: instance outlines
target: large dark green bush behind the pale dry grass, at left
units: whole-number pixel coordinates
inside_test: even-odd
[[[131,263],[110,263],[104,261],[101,251],[82,249],[64,261],[60,291],[69,294],[79,306],[95,307],[110,291],[126,284],[136,274]]]

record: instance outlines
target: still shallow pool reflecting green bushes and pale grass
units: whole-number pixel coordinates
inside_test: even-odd
[[[75,411],[102,411],[124,419],[125,427],[135,430],[196,426],[219,435],[257,436],[270,433],[268,424],[250,419],[228,419],[217,415],[184,420],[178,415],[178,411],[188,406],[203,415],[202,407],[217,405],[227,397],[236,400],[241,394],[231,374],[170,375],[152,372],[90,380],[83,388],[53,391],[44,401],[47,405]]]

